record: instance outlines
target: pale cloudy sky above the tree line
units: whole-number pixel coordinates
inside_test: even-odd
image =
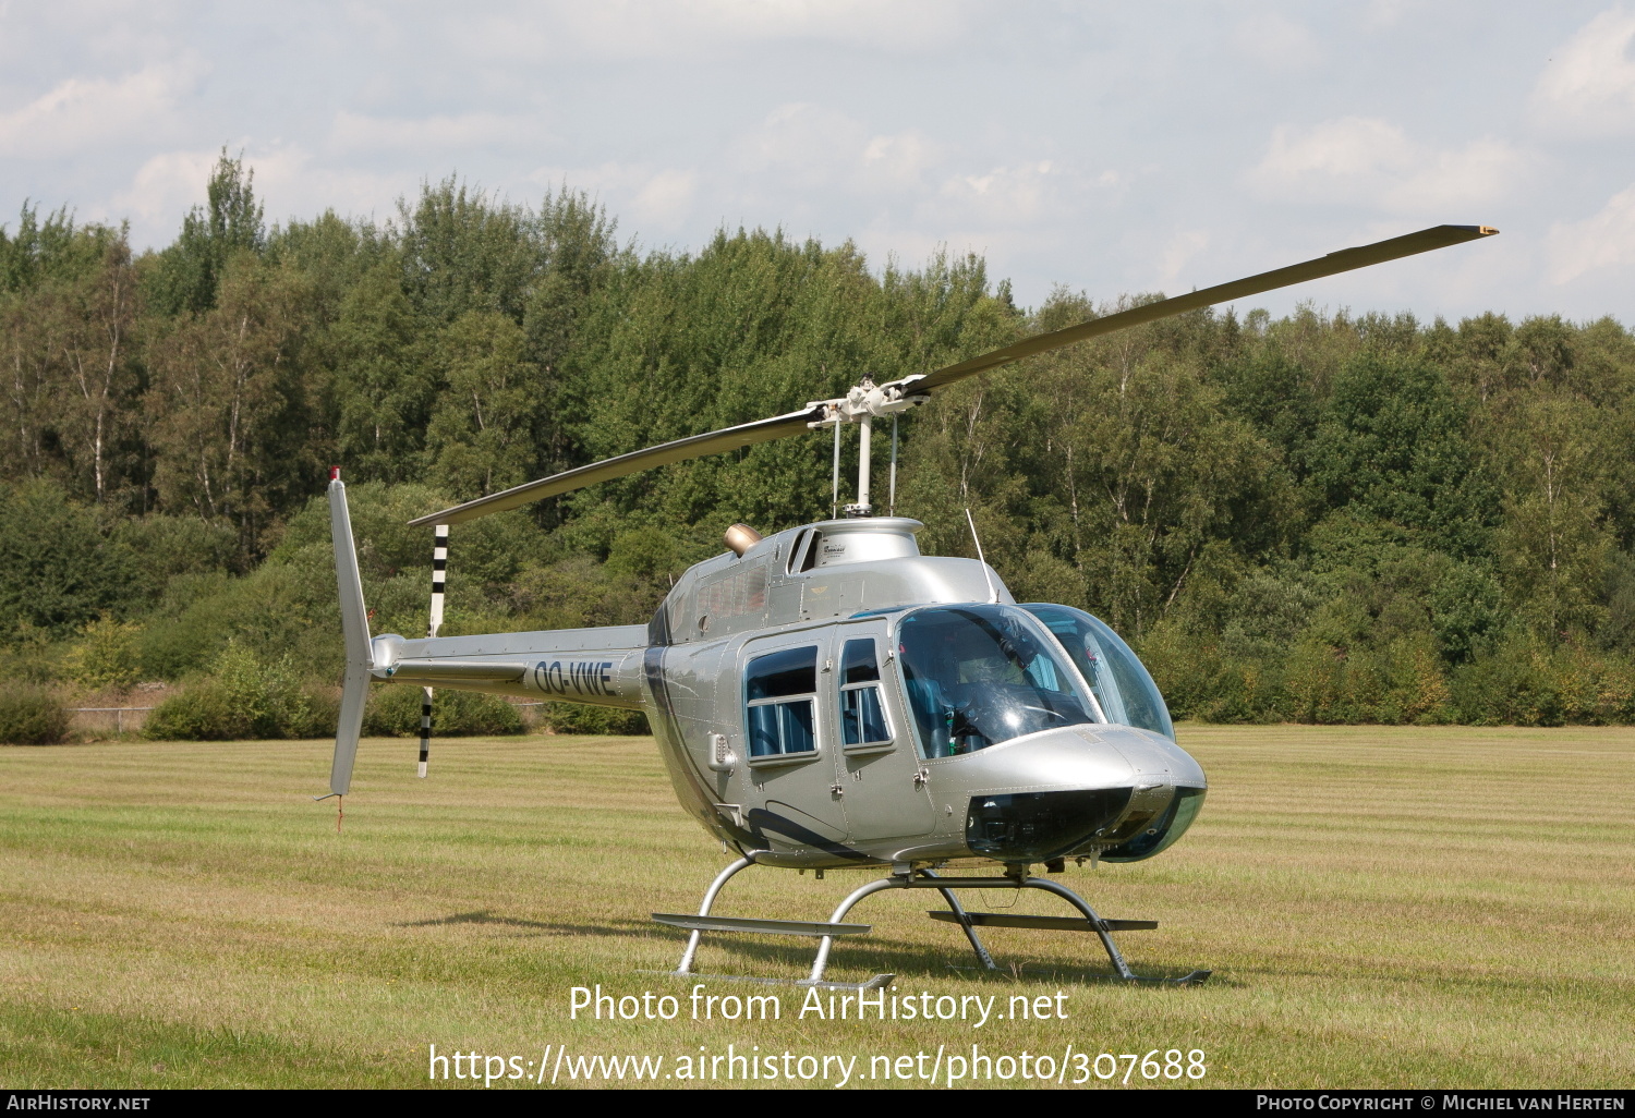
[[[222,147],[270,222],[566,185],[641,248],[976,252],[1024,306],[1486,224],[1248,306],[1635,325],[1632,5],[0,0],[0,221],[162,247]]]

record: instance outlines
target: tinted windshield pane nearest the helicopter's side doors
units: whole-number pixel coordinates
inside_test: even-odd
[[[1014,606],[914,610],[898,624],[898,662],[925,757],[1095,721],[1077,672]]]

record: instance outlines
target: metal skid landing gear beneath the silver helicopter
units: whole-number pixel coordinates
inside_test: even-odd
[[[855,889],[845,897],[834,910],[834,915],[827,922],[811,922],[811,920],[757,920],[744,917],[713,917],[710,915],[710,907],[714,904],[716,896],[721,892],[721,886],[728,883],[732,874],[741,870],[747,870],[754,863],[749,858],[739,858],[710,883],[710,889],[705,891],[703,904],[698,906],[698,915],[680,915],[672,912],[654,912],[652,919],[659,923],[667,923],[677,928],[687,928],[692,935],[687,937],[687,950],[682,951],[682,961],[677,964],[672,974],[677,976],[693,976],[693,958],[698,955],[698,940],[705,932],[752,932],[759,935],[801,935],[818,940],[818,958],[813,961],[811,974],[801,981],[798,986],[819,986],[826,989],[842,989],[842,991],[870,991],[878,989],[891,982],[894,974],[875,974],[863,982],[831,982],[824,977],[824,971],[829,966],[829,950],[834,945],[835,937],[840,935],[865,935],[873,930],[868,923],[842,923],[845,914],[850,912],[863,897],[875,892],[883,892],[885,889],[935,889],[942,894],[947,902],[947,910],[932,910],[927,915],[934,920],[945,920],[948,923],[958,923],[965,932],[965,938],[970,940],[971,950],[976,951],[978,961],[983,969],[997,971],[994,958],[988,953],[983,945],[981,937],[976,933],[979,927],[991,928],[1040,928],[1051,932],[1094,932],[1107,950],[1107,958],[1113,964],[1113,973],[1125,982],[1167,982],[1172,986],[1197,986],[1203,982],[1210,971],[1192,971],[1179,979],[1156,979],[1143,977],[1130,969],[1125,963],[1123,955],[1118,951],[1118,945],[1113,943],[1113,932],[1135,932],[1141,928],[1156,928],[1156,920],[1104,920],[1095,915],[1095,910],[1086,904],[1084,897],[1069,889],[1064,884],[1050,881],[1045,878],[1032,878],[1025,871],[1007,873],[1002,878],[938,878],[930,870],[909,870],[901,873],[893,873],[889,878],[880,881],[870,881],[868,884]],[[1064,899],[1074,909],[1081,912],[1077,917],[1043,917],[1043,915],[1014,915],[1009,912],[966,912],[955,896],[955,889],[1043,889],[1045,892],[1053,892]],[[695,976],[695,977],[744,977],[744,976]],[[757,982],[780,982],[786,979],[749,979]]]

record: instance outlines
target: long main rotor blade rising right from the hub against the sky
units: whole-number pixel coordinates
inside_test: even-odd
[[[1306,280],[1321,280],[1323,276],[1333,276],[1355,268],[1367,268],[1370,265],[1385,263],[1386,260],[1413,257],[1414,253],[1431,252],[1432,248],[1447,248],[1449,245],[1458,245],[1467,240],[1491,237],[1496,232],[1499,230],[1491,229],[1489,226],[1432,226],[1431,229],[1421,229],[1419,232],[1406,234],[1403,237],[1391,237],[1390,240],[1362,245],[1360,248],[1341,248],[1339,252],[1331,252],[1326,257],[1306,260],[1305,263],[1290,265],[1287,268],[1277,268],[1275,271],[1262,271],[1261,275],[1249,276],[1248,280],[1220,283],[1213,288],[1203,288],[1203,291],[1194,291],[1190,294],[1176,296],[1174,299],[1148,302],[1141,307],[1109,314],[1105,319],[1091,319],[1089,322],[1081,322],[1079,325],[1066,327],[1063,330],[1038,333],[1032,338],[1024,338],[1015,345],[1007,345],[1002,350],[983,353],[981,356],[960,361],[958,364],[943,366],[934,373],[925,373],[924,376],[904,378],[896,381],[896,384],[906,392],[927,392],[940,389],[956,381],[963,381],[968,376],[996,369],[1001,364],[1010,364],[1012,361],[1020,361],[1022,358],[1033,356],[1035,353],[1059,350],[1064,345],[1084,342],[1086,338],[1097,338],[1104,333],[1128,330],[1130,327],[1136,327],[1144,322],[1156,322],[1158,319],[1185,314],[1187,311],[1197,311],[1198,307],[1208,307],[1216,302],[1230,302],[1233,299],[1243,299],[1244,296],[1261,294],[1262,291],[1287,288],[1295,283],[1305,283]]]

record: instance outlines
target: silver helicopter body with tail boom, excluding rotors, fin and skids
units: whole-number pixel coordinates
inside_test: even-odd
[[[374,673],[644,709],[682,806],[765,865],[1138,860],[1179,838],[1207,785],[1140,660],[979,561],[921,556],[919,528],[768,536],[692,567],[647,626],[376,637]]]

